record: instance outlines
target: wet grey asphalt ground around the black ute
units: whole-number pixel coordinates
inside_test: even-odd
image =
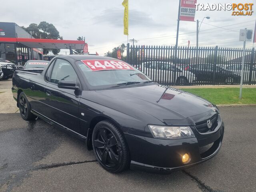
[[[75,136],[41,119],[27,122],[19,113],[0,111],[0,192],[254,192],[256,106],[221,107],[220,112],[225,124],[220,152],[198,166],[159,175],[111,174]]]

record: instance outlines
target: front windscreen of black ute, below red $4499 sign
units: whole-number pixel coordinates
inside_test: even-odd
[[[125,62],[116,61],[116,60],[113,60],[111,62],[112,63],[114,62],[114,64],[116,64],[117,67],[119,67],[117,65],[118,63],[126,64]],[[95,68],[94,66],[93,68],[89,68],[86,64],[84,64],[84,62],[77,61],[76,63],[84,73],[86,82],[90,90],[111,88],[111,87],[120,86],[120,85],[130,85],[130,84],[139,85],[144,82],[152,81],[148,76],[146,76],[145,74],[143,74],[142,72],[140,72],[139,70],[137,70],[136,68],[133,68],[128,64],[126,64],[129,66],[127,67],[127,69],[124,69],[124,68],[121,69],[120,67],[120,69],[103,69],[103,70],[93,71]],[[109,64],[110,63],[108,63],[108,65]]]

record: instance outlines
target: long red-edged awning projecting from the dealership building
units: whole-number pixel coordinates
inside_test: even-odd
[[[84,41],[58,40],[58,39],[32,39],[32,38],[5,38],[0,37],[0,42],[19,43],[29,48],[49,49],[80,49],[84,48]]]

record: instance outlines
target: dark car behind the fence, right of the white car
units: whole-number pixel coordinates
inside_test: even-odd
[[[240,76],[233,72],[214,66],[214,64],[191,64],[185,68],[196,76],[197,82],[213,82],[215,71],[215,82],[224,84],[237,84],[240,82]]]

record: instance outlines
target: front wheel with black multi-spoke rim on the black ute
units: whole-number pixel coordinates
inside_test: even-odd
[[[130,164],[130,154],[124,135],[110,121],[96,124],[92,132],[92,147],[100,165],[109,172],[126,170]]]

